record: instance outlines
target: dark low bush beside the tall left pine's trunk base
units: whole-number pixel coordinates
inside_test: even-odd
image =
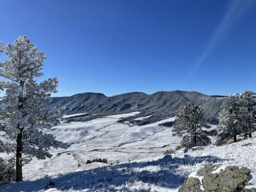
[[[5,161],[0,157],[0,182],[11,182],[16,180],[14,167],[14,158]]]

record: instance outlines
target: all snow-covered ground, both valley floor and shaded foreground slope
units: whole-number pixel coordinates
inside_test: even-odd
[[[172,127],[158,124],[174,118],[143,126],[117,123],[121,117],[136,114],[62,122],[53,127],[48,132],[71,146],[52,150],[51,159],[33,159],[24,167],[26,182],[0,185],[0,191],[177,191],[190,173],[209,162],[245,165],[256,172],[255,138],[210,145],[188,151],[185,157],[183,153],[164,157],[163,152],[175,148],[180,139],[172,136]],[[243,146],[248,142],[252,144]],[[88,159],[95,158],[107,158],[109,165],[86,165]],[[45,189],[50,180],[55,186]]]

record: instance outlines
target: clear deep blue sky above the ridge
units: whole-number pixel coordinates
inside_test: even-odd
[[[256,91],[253,0],[0,0],[0,40],[18,35],[46,53],[55,96]]]

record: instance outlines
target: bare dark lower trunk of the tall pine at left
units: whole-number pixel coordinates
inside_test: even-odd
[[[18,125],[19,126],[19,125]],[[20,130],[20,129],[19,129]],[[23,181],[22,179],[22,131],[17,134],[17,148],[16,148],[16,182]]]

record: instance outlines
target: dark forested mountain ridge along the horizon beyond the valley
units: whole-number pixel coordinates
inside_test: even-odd
[[[224,100],[224,96],[208,96],[186,91],[160,91],[151,95],[132,92],[112,97],[101,93],[81,93],[70,97],[54,97],[47,108],[61,110],[63,114],[87,113],[68,118],[76,121],[138,111],[141,113],[124,120],[142,125],[173,117],[186,103],[197,102],[205,110],[206,118],[210,122],[215,122]],[[136,120],[138,117],[147,118]]]

